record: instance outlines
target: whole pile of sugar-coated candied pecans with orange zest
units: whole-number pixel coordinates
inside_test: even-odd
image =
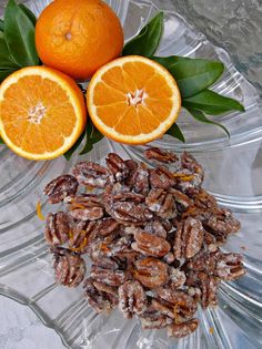
[[[88,254],[84,297],[98,312],[118,306],[144,329],[167,327],[180,338],[198,328],[198,304],[215,306],[220,281],[245,273],[240,255],[219,247],[240,223],[201,188],[204,173],[193,156],[160,148],[144,156],[157,167],[111,153],[107,167],[80,162],[73,175],[49,183],[49,202],[67,209],[48,215],[46,239],[64,286],[83,280]]]

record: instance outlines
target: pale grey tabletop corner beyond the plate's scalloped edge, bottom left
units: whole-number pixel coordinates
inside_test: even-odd
[[[2,296],[0,309],[1,349],[66,349],[60,337],[31,309]]]

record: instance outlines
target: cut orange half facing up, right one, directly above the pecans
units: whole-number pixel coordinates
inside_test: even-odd
[[[97,129],[127,144],[144,144],[163,135],[178,119],[180,91],[159,63],[130,55],[102,66],[92,78],[88,110]]]

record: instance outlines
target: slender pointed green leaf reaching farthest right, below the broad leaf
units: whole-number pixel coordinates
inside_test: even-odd
[[[244,106],[240,102],[210,90],[204,90],[192,97],[183,99],[182,105],[187,109],[200,110],[210,115],[220,115],[231,111],[244,112]]]

